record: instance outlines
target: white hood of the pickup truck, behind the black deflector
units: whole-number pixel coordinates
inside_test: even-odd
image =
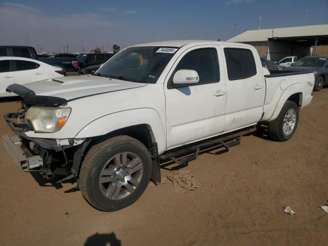
[[[105,78],[93,75],[58,77],[40,80],[24,86],[40,96],[55,96],[74,100],[113,91],[127,90],[146,86],[147,84],[133,83],[114,78]]]

